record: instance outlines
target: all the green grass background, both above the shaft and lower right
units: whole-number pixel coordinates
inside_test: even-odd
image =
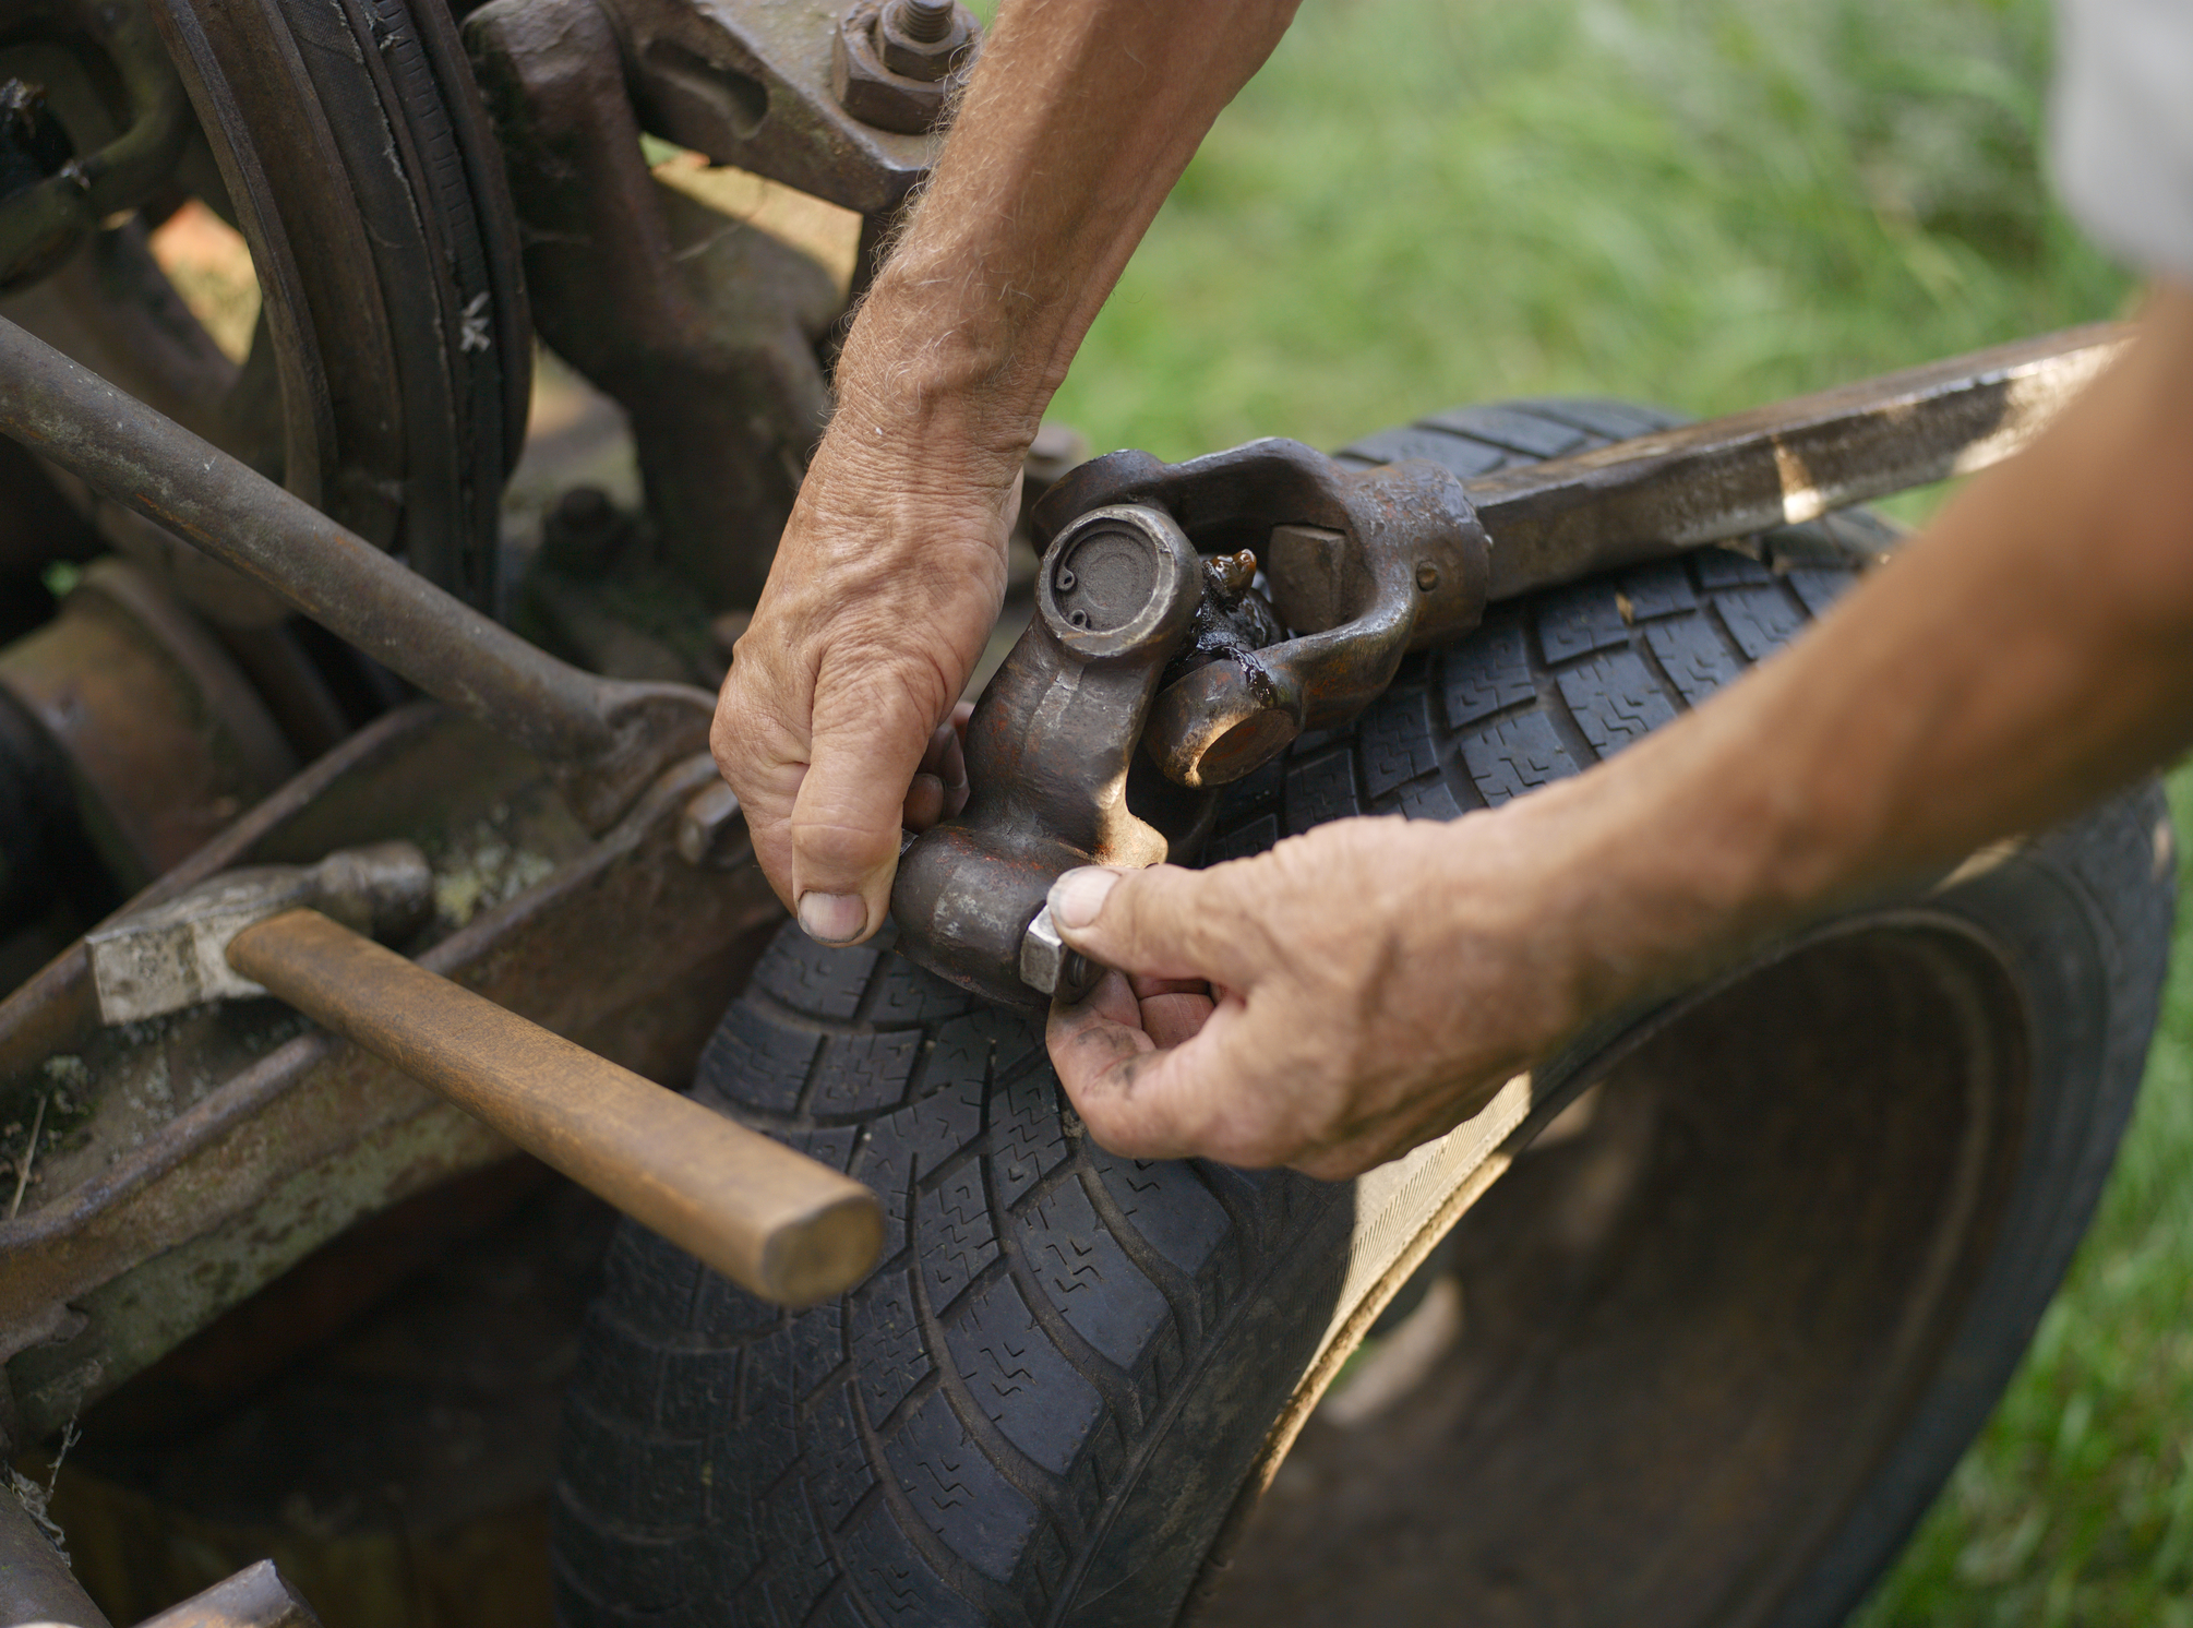
[[[1502,395],[1717,412],[2112,316],[2042,178],[2048,57],[2044,0],[1309,0],[1055,417],[1186,456]],[[2184,937],[2070,1284],[1866,1628],[2193,1628]]]

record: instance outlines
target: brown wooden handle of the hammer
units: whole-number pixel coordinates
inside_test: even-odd
[[[811,1305],[875,1266],[875,1194],[318,911],[243,928],[228,965],[386,1058],[763,1299]]]

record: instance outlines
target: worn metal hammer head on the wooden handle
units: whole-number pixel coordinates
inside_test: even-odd
[[[311,867],[226,871],[88,932],[103,1022],[136,1022],[204,1000],[265,994],[228,965],[228,943],[283,911],[325,911],[357,932],[388,937],[425,922],[434,873],[410,843],[329,853]]]

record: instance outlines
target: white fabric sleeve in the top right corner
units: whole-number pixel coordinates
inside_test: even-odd
[[[2193,0],[2059,0],[2050,160],[2097,244],[2193,283]]]

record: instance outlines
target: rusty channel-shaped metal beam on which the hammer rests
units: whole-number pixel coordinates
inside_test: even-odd
[[[471,915],[417,965],[647,1079],[684,1079],[783,922],[752,864],[695,869],[680,853],[689,805],[721,783],[715,766],[678,764],[612,832],[586,840],[533,790],[531,764],[432,702],[406,706],[134,908],[239,864],[465,832],[489,803],[539,807],[542,823],[515,840],[555,869]],[[436,875],[461,875],[469,851],[461,840]],[[575,943],[645,954],[572,954]],[[55,1053],[88,1071],[92,1117],[77,1152],[42,1158],[53,1187],[39,1202],[0,1220],[0,1358],[24,1437],[59,1428],[360,1216],[511,1152],[379,1055],[270,1025],[254,1003],[105,1029],[81,946],[0,1003],[0,1079],[29,1073],[44,1088],[39,1069]],[[175,1082],[171,1110],[143,1106],[132,1084],[147,1077]]]

